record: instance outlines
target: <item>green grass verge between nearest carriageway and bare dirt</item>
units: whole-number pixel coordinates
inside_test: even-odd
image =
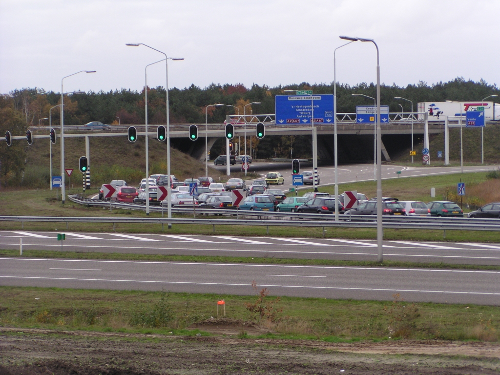
[[[393,301],[275,298],[257,290],[254,296],[238,296],[1,286],[0,325],[186,334],[191,324],[217,316],[217,299],[225,300],[227,319],[253,320],[275,332],[262,337],[332,342],[500,338],[500,312],[495,306],[408,303],[398,294]],[[250,307],[260,301],[272,314],[252,313]]]

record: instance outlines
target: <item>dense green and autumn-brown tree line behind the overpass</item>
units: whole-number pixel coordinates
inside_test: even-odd
[[[245,87],[243,84],[215,84],[200,88],[194,84],[179,89],[170,88],[169,120],[175,123],[204,123],[205,110],[208,122],[223,122],[226,114],[243,114],[246,104],[258,101],[260,104],[248,105],[247,113],[254,114],[274,113],[274,96],[283,94],[284,89],[312,90],[314,94],[333,93],[333,84],[289,84],[277,87],[253,84]],[[427,84],[420,81],[417,84],[408,84],[399,87],[395,84],[382,84],[380,87],[381,104],[388,105],[391,112],[409,112],[410,103],[406,100],[394,99],[401,96],[416,103],[420,101],[444,100],[480,100],[491,94],[499,94],[496,84],[488,84],[482,79],[479,82],[457,77],[448,82]],[[359,83],[356,85],[338,84],[337,112],[354,112],[356,105],[371,104],[371,100],[362,96],[353,96],[353,93],[371,97],[376,96],[374,83]],[[148,123],[165,123],[165,89],[162,86],[147,88]],[[498,97],[495,97],[497,99]],[[39,119],[51,117],[52,126],[59,126],[60,93],[45,91],[41,88],[15,89],[8,94],[0,95],[0,136],[9,130],[12,135],[23,135],[25,130],[38,125]],[[210,106],[209,104],[223,103],[224,106]],[[234,108],[234,107],[236,108]],[[50,108],[52,108],[50,110]],[[89,121],[101,121],[108,124],[139,124],[144,123],[144,90],[136,91],[122,88],[114,91],[84,92],[68,94],[64,97],[64,124],[82,125]],[[48,125],[48,120],[42,120]],[[271,139],[272,138],[272,139]],[[259,157],[290,157],[293,150],[294,157],[310,153],[309,139],[305,136],[273,136],[258,140],[252,137],[252,148],[258,150]],[[249,140],[248,140],[249,142]],[[172,142],[175,146],[175,142]],[[19,172],[24,168],[25,142],[13,142],[7,149],[5,142],[0,143],[0,179],[9,172]],[[214,145],[215,154],[217,144]],[[249,148],[249,144],[247,149]]]

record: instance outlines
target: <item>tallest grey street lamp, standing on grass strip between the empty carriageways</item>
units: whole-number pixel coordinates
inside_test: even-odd
[[[383,239],[383,230],[382,230],[382,128],[380,126],[380,63],[379,63],[379,53],[378,53],[378,45],[375,43],[373,39],[360,38],[360,37],[349,37],[349,36],[340,36],[340,39],[352,40],[352,41],[368,41],[372,42],[376,48],[376,154],[377,154],[377,182],[376,182],[376,199],[377,199],[377,208],[376,208],[376,234],[377,234],[377,261],[382,261],[382,239]]]

